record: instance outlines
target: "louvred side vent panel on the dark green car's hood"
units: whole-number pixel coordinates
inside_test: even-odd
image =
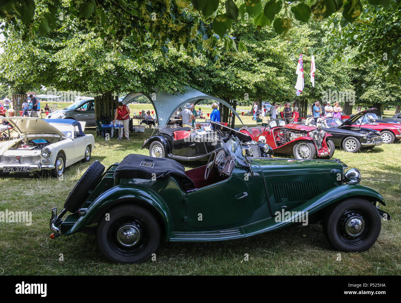
[[[319,193],[316,180],[277,182],[272,186],[276,203],[303,203]]]

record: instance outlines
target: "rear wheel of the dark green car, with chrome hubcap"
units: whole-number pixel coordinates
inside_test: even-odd
[[[156,252],[160,235],[160,226],[148,210],[128,204],[116,206],[101,218],[96,240],[110,261],[140,263]]]

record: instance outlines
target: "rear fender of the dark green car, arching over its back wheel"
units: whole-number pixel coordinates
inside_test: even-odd
[[[124,203],[124,201],[140,200],[148,203],[158,211],[164,222],[166,228],[166,240],[168,240],[171,233],[172,220],[166,203],[164,203],[163,199],[154,191],[140,185],[135,185],[134,188],[132,186],[132,184],[117,185],[102,193],[91,203],[91,205],[89,205],[85,214],[80,217],[67,232],[65,232],[65,235],[79,232],[81,228],[91,224],[91,221],[95,216],[99,214],[100,216],[103,215],[103,212],[112,205],[120,202]]]

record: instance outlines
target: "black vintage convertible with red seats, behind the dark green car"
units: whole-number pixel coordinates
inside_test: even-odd
[[[210,121],[196,123],[195,128],[158,126],[142,148],[149,149],[151,157],[167,157],[181,161],[207,160],[218,148],[221,138],[227,136],[221,124]],[[253,157],[271,157],[273,150],[268,144],[253,141],[250,136],[236,132],[243,149]],[[249,155],[250,155],[249,154]]]

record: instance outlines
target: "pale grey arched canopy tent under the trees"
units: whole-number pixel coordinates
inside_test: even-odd
[[[234,110],[234,108],[231,107],[231,105],[228,102],[215,96],[199,92],[197,89],[194,89],[189,86],[186,86],[185,88],[188,91],[185,94],[181,94],[178,92],[175,92],[174,94],[169,94],[164,91],[158,94],[159,93],[158,88],[153,88],[154,92],[150,95],[146,95],[144,92],[140,93],[131,92],[130,94],[125,96],[125,98],[122,100],[122,103],[128,104],[131,103],[132,100],[134,100],[135,98],[138,98],[139,96],[145,96],[152,103],[154,110],[156,111],[156,116],[158,118],[158,125],[166,125],[170,120],[170,117],[174,114],[174,112],[178,108],[185,105],[186,103],[195,103],[196,100],[210,99],[210,100],[215,100],[217,102],[221,102],[225,106],[227,106],[235,114],[235,116],[238,117],[239,121],[241,121],[241,124],[243,124],[239,114]]]

